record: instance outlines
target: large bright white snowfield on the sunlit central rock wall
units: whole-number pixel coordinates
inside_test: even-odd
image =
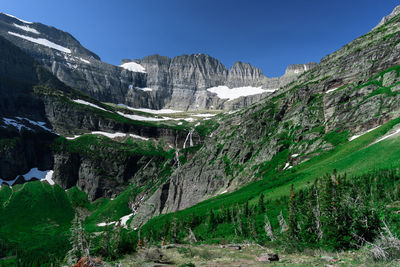
[[[229,99],[228,101],[231,101],[242,96],[258,95],[262,93],[272,93],[275,92],[276,89],[266,90],[262,89],[261,87],[252,87],[252,86],[229,88],[228,86],[221,85],[217,87],[208,88],[207,91],[217,94],[217,96],[221,99]]]

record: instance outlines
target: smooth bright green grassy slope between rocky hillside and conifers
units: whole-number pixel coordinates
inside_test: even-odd
[[[236,204],[249,201],[256,204],[259,195],[263,193],[267,200],[277,200],[287,197],[290,187],[294,184],[299,189],[334,169],[349,175],[360,175],[376,169],[400,167],[400,138],[393,137],[372,144],[379,137],[387,133],[393,126],[400,123],[400,118],[391,120],[381,127],[367,133],[351,142],[346,142],[335,149],[325,152],[309,161],[287,171],[269,173],[262,180],[245,186],[231,194],[223,194],[203,201],[188,209],[164,214],[153,218],[144,227],[144,231],[151,231],[154,227],[161,227],[172,218],[185,220],[192,214],[207,217],[211,209],[222,210]],[[274,206],[274,205],[272,205]],[[277,215],[280,209],[286,209],[286,204],[272,212]],[[275,216],[276,217],[276,216]],[[275,222],[276,224],[277,222]]]

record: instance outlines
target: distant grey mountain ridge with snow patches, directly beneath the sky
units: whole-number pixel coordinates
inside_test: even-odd
[[[285,75],[276,78],[267,78],[249,63],[236,62],[227,69],[204,54],[152,55],[125,59],[121,66],[114,66],[102,62],[67,32],[3,13],[0,35],[72,88],[102,102],[137,108],[236,109],[260,100],[316,65],[291,65]]]

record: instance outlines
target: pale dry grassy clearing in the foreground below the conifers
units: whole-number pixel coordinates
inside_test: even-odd
[[[260,261],[263,254],[277,253],[269,248],[242,244],[241,249],[220,245],[176,245],[164,249],[141,249],[116,262],[122,266],[399,266],[400,261],[373,262],[364,250],[331,253],[309,250],[301,253],[279,253],[279,261]],[[162,260],[157,260],[162,254]],[[114,266],[112,263],[110,266]]]

